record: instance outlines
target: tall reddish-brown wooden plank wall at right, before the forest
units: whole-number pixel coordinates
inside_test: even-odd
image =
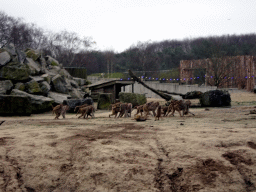
[[[196,78],[195,70],[205,70],[205,85],[214,85],[214,75],[222,76],[222,88],[239,88],[251,91],[256,85],[256,57],[235,56],[219,58],[219,68],[214,68],[214,59],[181,60],[180,81],[181,83],[194,84]],[[218,70],[216,72],[216,70]]]

